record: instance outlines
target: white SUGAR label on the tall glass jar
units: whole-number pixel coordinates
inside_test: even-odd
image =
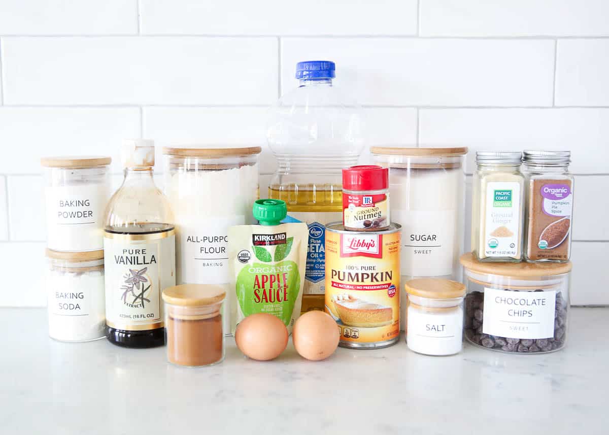
[[[396,210],[392,219],[402,225],[401,274],[410,277],[452,275],[459,256],[455,243],[457,211]]]

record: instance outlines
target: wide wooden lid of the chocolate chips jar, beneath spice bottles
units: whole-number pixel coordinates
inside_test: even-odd
[[[485,263],[476,260],[471,252],[463,254],[459,261],[468,271],[524,279],[566,274],[573,268],[571,261],[567,263]]]

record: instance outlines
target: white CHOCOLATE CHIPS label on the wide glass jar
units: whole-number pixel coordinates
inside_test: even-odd
[[[482,332],[507,338],[554,337],[556,291],[484,289]]]

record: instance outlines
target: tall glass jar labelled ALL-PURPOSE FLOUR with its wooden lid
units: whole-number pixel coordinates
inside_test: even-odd
[[[175,216],[176,272],[180,284],[227,284],[228,227],[255,224],[261,147],[166,147],[165,190]],[[234,294],[227,295],[236,311]],[[225,313],[225,331],[230,315]]]

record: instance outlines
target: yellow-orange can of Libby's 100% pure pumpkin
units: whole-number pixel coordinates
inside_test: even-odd
[[[326,313],[340,329],[342,347],[379,348],[400,336],[400,235],[326,227]]]

